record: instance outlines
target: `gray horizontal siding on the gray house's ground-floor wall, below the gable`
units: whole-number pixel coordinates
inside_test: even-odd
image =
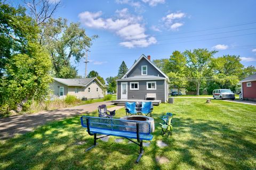
[[[147,90],[146,83],[148,81],[156,82],[156,90]],[[128,99],[145,100],[146,94],[156,94],[156,99],[165,102],[164,80],[143,80],[143,81],[117,81],[117,99],[121,99],[121,82],[128,83]],[[139,82],[139,90],[130,90],[130,82]]]

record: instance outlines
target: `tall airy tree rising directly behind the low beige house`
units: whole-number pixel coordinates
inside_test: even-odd
[[[42,45],[48,49],[53,64],[54,76],[58,78],[75,78],[77,71],[70,64],[70,59],[78,63],[89,50],[92,39],[88,37],[79,23],[67,24],[66,19],[49,19],[42,24]]]

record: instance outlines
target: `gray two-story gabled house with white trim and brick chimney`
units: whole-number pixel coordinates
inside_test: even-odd
[[[145,100],[147,94],[166,102],[169,94],[169,78],[153,62],[150,56],[141,55],[127,73],[117,79],[117,100]]]

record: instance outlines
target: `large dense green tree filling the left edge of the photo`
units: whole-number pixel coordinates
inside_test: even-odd
[[[51,60],[38,44],[39,29],[25,8],[0,2],[0,112],[49,92]],[[23,103],[23,102],[22,102]]]

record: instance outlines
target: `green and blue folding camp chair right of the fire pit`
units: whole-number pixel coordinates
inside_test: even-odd
[[[164,123],[159,123],[161,125],[162,131],[161,135],[165,135],[167,133],[167,137],[172,135],[173,126],[172,126],[172,113],[167,113],[166,116],[162,117]]]

